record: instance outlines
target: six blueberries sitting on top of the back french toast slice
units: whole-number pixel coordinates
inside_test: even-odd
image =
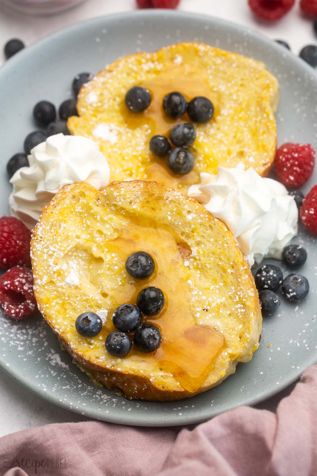
[[[126,107],[134,113],[143,112],[151,104],[151,94],[148,89],[134,86],[125,95]],[[178,119],[186,112],[192,122],[203,124],[210,121],[214,113],[212,102],[203,96],[197,96],[187,102],[182,93],[173,91],[163,99],[163,111],[166,116]],[[167,166],[174,174],[186,175],[194,167],[194,156],[189,150],[196,139],[196,130],[190,122],[177,124],[170,132],[170,141],[161,135],[153,136],[150,140],[150,150],[157,157],[167,156]]]

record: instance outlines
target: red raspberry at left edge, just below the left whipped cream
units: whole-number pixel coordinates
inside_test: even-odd
[[[0,266],[11,268],[31,264],[31,232],[18,218],[0,218]]]

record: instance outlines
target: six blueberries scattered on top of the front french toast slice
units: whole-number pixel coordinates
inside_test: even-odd
[[[125,262],[127,273],[135,279],[150,278],[154,268],[154,259],[145,251],[132,253]],[[117,330],[110,332],[106,338],[107,352],[115,357],[127,355],[132,350],[132,337],[139,350],[154,352],[161,344],[162,334],[157,326],[144,324],[144,316],[157,316],[164,304],[163,291],[148,286],[139,292],[136,304],[125,303],[118,306],[112,315],[112,322]],[[102,321],[94,312],[85,312],[77,317],[75,327],[83,337],[96,337],[102,329]]]

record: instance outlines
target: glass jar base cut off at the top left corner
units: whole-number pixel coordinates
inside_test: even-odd
[[[4,7],[31,15],[52,15],[75,7],[84,0],[0,0]]]

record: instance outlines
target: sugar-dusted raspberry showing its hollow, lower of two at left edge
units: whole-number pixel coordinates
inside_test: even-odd
[[[0,278],[0,304],[8,316],[23,319],[37,308],[32,271],[24,266],[8,269]]]

